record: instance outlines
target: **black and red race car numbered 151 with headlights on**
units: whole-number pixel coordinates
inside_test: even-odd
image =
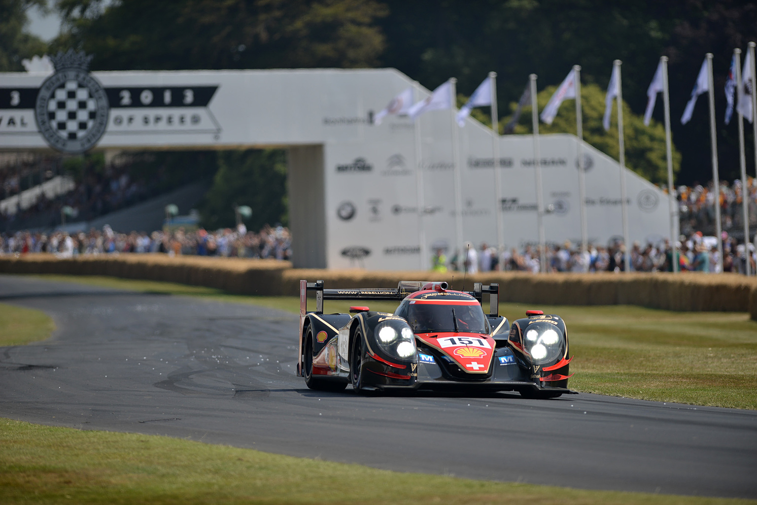
[[[315,291],[316,310],[307,310]],[[489,296],[490,313],[481,301]],[[392,300],[394,313],[350,307],[323,313],[324,300]],[[311,389],[519,391],[554,398],[568,389],[568,332],[559,316],[527,310],[509,325],[499,315],[499,285],[453,291],[447,282],[394,288],[324,289],[300,281],[297,373]]]

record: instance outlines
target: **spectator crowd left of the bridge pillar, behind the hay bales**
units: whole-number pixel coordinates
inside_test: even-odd
[[[0,255],[53,253],[60,257],[79,254],[165,253],[169,255],[291,258],[291,235],[284,226],[264,226],[260,232],[248,232],[245,225],[215,232],[205,229],[174,232],[114,232],[110,226],[86,232],[16,232],[0,234]]]

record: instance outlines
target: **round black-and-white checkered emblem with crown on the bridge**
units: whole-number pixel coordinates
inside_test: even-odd
[[[39,88],[34,111],[37,126],[58,151],[89,151],[107,127],[107,95],[87,71],[90,59],[73,51],[51,58],[56,71]]]

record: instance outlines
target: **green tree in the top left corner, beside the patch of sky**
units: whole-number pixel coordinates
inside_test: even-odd
[[[33,6],[44,11],[47,0],[0,0],[0,72],[23,71],[21,60],[45,54],[47,44],[25,31]]]

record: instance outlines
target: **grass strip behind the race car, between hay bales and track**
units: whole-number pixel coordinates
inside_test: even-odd
[[[41,276],[109,288],[201,296],[297,313],[297,297],[229,295],[213,288],[95,276]],[[310,301],[314,306],[314,301]],[[326,302],[326,312],[348,304]],[[374,310],[397,304],[375,302]],[[577,391],[683,404],[757,409],[757,322],[747,313],[671,312],[644,307],[500,304],[510,321],[527,308],[557,313],[571,343]]]

